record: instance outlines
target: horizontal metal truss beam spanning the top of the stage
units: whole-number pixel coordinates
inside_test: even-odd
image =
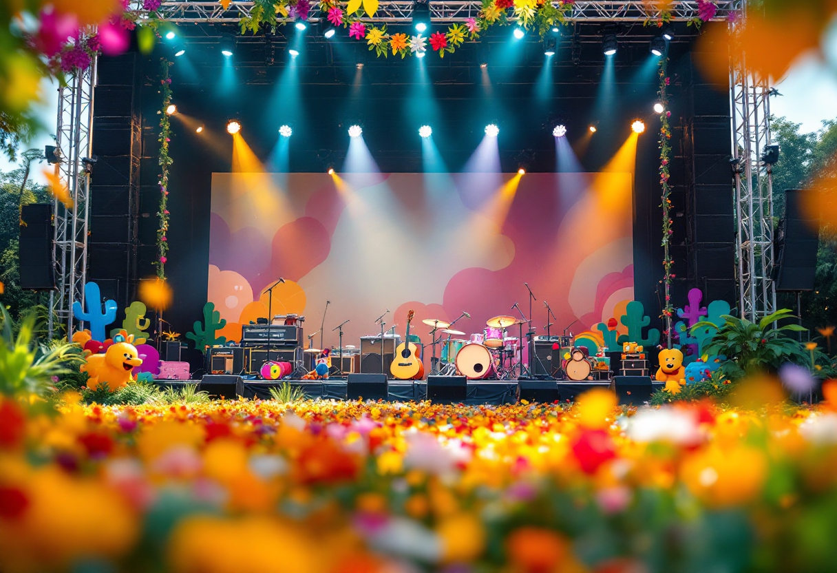
[[[557,2],[553,2],[557,5]],[[660,15],[660,7],[670,4],[672,19],[689,21],[698,16],[695,1],[665,2],[665,0],[628,0],[627,2],[576,2],[571,22],[638,22],[655,19]],[[719,0],[716,20],[727,19],[736,12],[741,0]],[[163,2],[157,13],[163,20],[173,23],[238,23],[247,18],[254,2],[235,2],[224,9],[218,2]],[[476,18],[482,9],[480,0],[449,0],[430,3],[430,20],[434,23],[465,22],[466,18]],[[319,18],[311,18],[316,22]],[[382,0],[378,3],[374,18],[361,18],[364,22],[410,23],[413,19],[413,0]],[[515,18],[510,18],[514,20]],[[289,18],[280,18],[287,23]]]

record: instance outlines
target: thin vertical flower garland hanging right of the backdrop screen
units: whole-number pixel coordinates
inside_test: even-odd
[[[674,221],[671,219],[671,186],[669,184],[669,163],[671,159],[671,125],[668,99],[668,86],[670,84],[670,77],[668,75],[668,58],[660,59],[660,103],[663,105],[663,113],[660,114],[660,187],[662,188],[662,203],[660,207],[663,209],[663,292],[665,293],[665,303],[663,305],[663,318],[665,319],[665,330],[667,336],[671,336],[671,317],[674,315],[674,306],[671,304],[671,280],[675,277],[671,274],[671,266],[674,261],[671,260],[670,243],[671,235],[674,230],[671,225]]]

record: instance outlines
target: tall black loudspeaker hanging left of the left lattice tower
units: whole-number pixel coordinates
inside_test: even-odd
[[[50,291],[55,288],[52,205],[23,205],[20,220],[20,287]]]

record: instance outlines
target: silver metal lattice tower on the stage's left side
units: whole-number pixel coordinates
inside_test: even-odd
[[[49,293],[49,333],[65,325],[73,335],[73,302],[85,301],[87,276],[87,229],[90,218],[90,151],[93,143],[93,91],[96,60],[90,68],[69,78],[59,90],[57,147],[63,155],[57,164],[61,183],[72,205],[58,199],[54,204],[53,259],[57,290]]]

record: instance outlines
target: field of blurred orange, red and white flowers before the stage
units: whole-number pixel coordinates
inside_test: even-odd
[[[763,389],[759,389],[763,394]],[[769,397],[769,395],[768,395]],[[0,570],[818,571],[837,414],[0,402]]]

